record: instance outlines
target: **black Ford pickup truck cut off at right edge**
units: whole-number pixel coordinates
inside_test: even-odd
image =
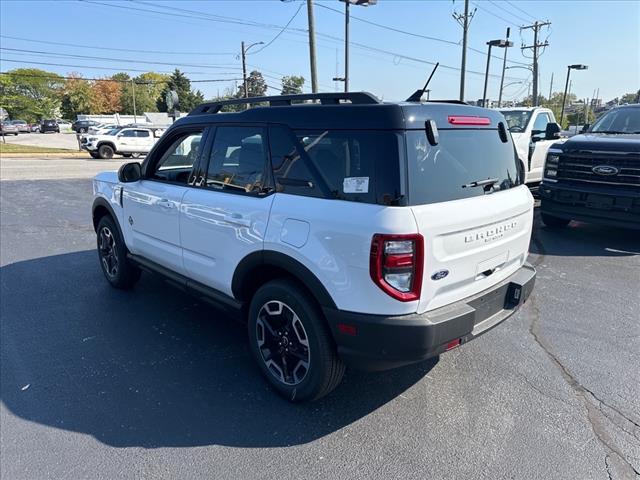
[[[542,221],[640,229],[640,104],[616,107],[551,146],[540,188]]]

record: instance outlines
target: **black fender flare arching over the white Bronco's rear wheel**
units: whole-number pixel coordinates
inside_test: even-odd
[[[284,253],[273,250],[262,250],[250,253],[244,257],[240,263],[238,263],[231,281],[231,291],[233,292],[233,296],[239,300],[248,300],[242,298],[242,290],[247,275],[250,275],[256,268],[269,266],[284,270],[297,278],[316,298],[321,307],[337,308],[333,298],[331,298],[331,295],[329,295],[325,286],[318,277],[311,272],[311,270],[305,267],[298,260],[295,260]]]

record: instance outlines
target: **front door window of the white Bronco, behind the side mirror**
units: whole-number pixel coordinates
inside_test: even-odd
[[[160,152],[151,178],[187,184],[201,151],[202,133],[203,130],[196,130],[178,135],[164,152]]]

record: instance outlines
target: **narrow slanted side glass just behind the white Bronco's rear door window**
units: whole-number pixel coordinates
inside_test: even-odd
[[[285,127],[269,129],[271,166],[276,189],[293,195],[322,197],[322,192],[314,182],[314,175],[300,155],[296,140],[293,133]]]

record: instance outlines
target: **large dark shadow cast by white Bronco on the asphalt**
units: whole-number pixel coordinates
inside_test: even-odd
[[[4,405],[115,447],[310,442],[394,399],[437,363],[348,371],[328,397],[290,404],[254,365],[244,325],[157,277],[112,289],[95,252],[82,251],[7,265],[0,279]]]

